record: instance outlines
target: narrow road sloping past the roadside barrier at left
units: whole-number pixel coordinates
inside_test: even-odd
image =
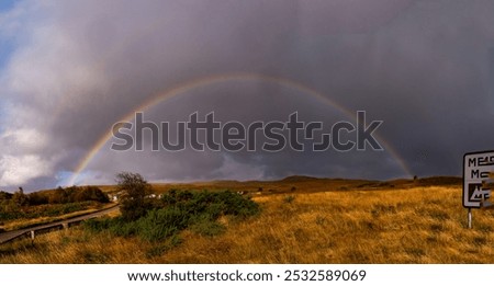
[[[78,217],[74,217],[74,218],[69,218],[69,219],[64,219],[60,221],[56,221],[56,222],[49,222],[46,225],[42,225],[42,226],[36,226],[36,227],[31,227],[31,228],[24,228],[24,229],[18,229],[18,230],[12,230],[12,231],[7,231],[7,232],[2,232],[0,233],[0,244],[9,242],[13,239],[16,239],[19,237],[25,236],[26,233],[31,233],[31,231],[40,231],[40,230],[47,230],[47,229],[53,229],[53,228],[63,228],[64,225],[70,225],[70,224],[75,224],[75,222],[80,222],[82,220],[87,220],[90,218],[96,218],[96,217],[101,217],[104,215],[108,215],[116,209],[119,209],[119,205],[106,208],[106,209],[102,209],[99,211],[94,211],[88,215],[81,215]]]

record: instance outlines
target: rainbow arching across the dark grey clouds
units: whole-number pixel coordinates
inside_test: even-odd
[[[144,112],[166,100],[178,96],[186,92],[190,92],[195,89],[204,88],[204,87],[207,87],[211,84],[228,82],[228,81],[261,81],[261,82],[270,82],[270,83],[280,84],[282,87],[294,89],[302,93],[308,94],[308,95],[324,102],[325,104],[338,110],[339,112],[347,115],[349,118],[352,118],[352,116],[355,116],[353,113],[351,113],[344,106],[339,105],[338,103],[332,101],[330,99],[325,98],[317,90],[312,89],[307,85],[304,85],[300,82],[289,80],[285,78],[271,77],[271,76],[265,76],[265,75],[258,75],[258,73],[227,73],[227,75],[215,75],[215,76],[199,78],[195,80],[187,81],[182,84],[178,84],[177,87],[173,87],[165,92],[158,93],[157,95],[153,96],[151,99],[143,102],[136,108],[128,112],[119,122],[131,122],[134,118],[135,113]],[[98,152],[103,148],[103,146],[111,138],[112,138],[112,130],[109,130],[108,133],[105,133],[103,136],[101,136],[96,141],[96,144],[92,146],[90,151],[77,164],[77,168],[75,169],[74,174],[71,175],[71,178],[68,182],[69,185],[74,185],[77,182],[77,179],[79,178],[80,173],[85,171],[85,169],[88,167],[88,164],[93,160],[93,158],[98,155]],[[405,174],[407,174],[408,176],[411,176],[412,173],[411,173],[408,167],[406,165],[403,158],[396,152],[396,150],[386,140],[384,140],[381,136],[377,135],[375,138],[379,139],[382,147],[388,152],[391,153],[391,156],[394,158],[394,160],[401,167],[402,171]]]

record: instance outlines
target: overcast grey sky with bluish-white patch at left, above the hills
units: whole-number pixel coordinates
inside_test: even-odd
[[[2,190],[113,183],[120,171],[149,181],[461,175],[464,152],[494,149],[492,0],[1,2]],[[137,106],[238,73],[251,76],[182,89],[145,117],[215,112],[248,125],[296,111],[330,127],[366,111],[383,121],[384,151],[115,152],[109,141],[74,176]]]

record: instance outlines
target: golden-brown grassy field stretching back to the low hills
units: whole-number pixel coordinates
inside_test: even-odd
[[[229,185],[250,193],[262,210],[242,221],[221,218],[226,231],[218,236],[183,230],[161,242],[72,228],[34,244],[2,244],[0,263],[494,263],[494,210],[474,210],[467,229],[461,186],[445,182],[157,185],[158,192]]]

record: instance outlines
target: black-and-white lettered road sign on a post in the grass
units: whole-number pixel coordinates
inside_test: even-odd
[[[463,157],[463,207],[491,206],[494,185],[494,151],[465,153]]]

